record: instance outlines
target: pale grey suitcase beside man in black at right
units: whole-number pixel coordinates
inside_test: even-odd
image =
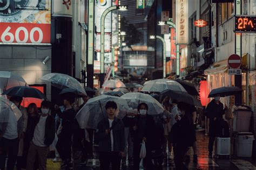
[[[230,138],[215,138],[215,157],[230,157]]]

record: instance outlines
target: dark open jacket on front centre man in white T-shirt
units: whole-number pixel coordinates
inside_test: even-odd
[[[119,118],[114,118],[112,123],[113,131],[113,151],[124,152],[125,148],[125,133],[124,123]],[[103,119],[98,123],[95,133],[95,142],[99,143],[99,152],[111,152],[111,137],[110,134],[106,134],[105,130],[110,129],[109,119]]]

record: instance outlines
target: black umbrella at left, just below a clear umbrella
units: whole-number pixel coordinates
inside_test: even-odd
[[[45,95],[41,91],[39,91],[35,88],[32,88],[32,87],[28,87],[28,86],[12,87],[12,88],[6,90],[2,95],[46,99]]]

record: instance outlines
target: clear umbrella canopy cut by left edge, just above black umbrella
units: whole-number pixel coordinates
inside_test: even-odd
[[[0,93],[15,86],[26,86],[26,81],[22,76],[12,72],[0,71]]]

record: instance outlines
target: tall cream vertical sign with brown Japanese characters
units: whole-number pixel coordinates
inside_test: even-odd
[[[177,44],[188,43],[188,0],[176,0],[176,37]]]

